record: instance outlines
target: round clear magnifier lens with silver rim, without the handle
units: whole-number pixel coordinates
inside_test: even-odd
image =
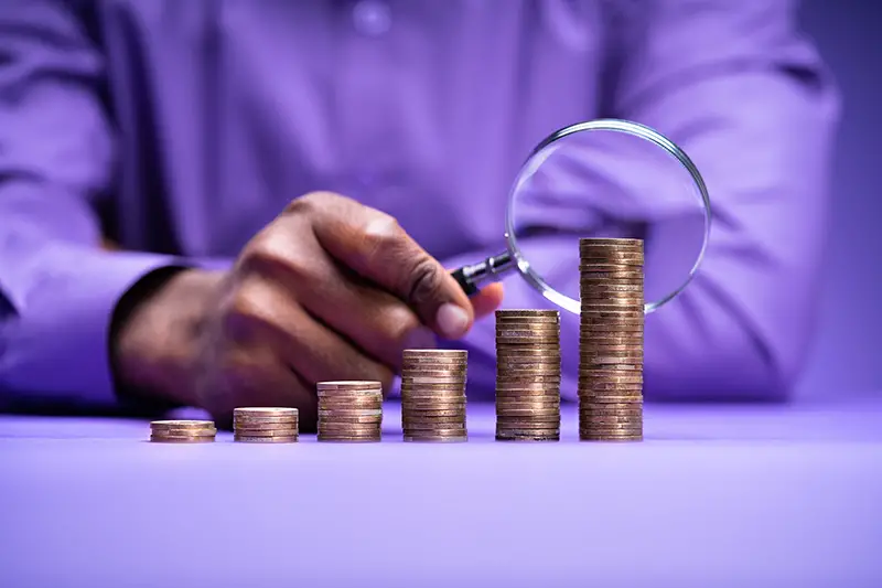
[[[645,242],[646,311],[675,297],[703,256],[710,202],[676,145],[622,120],[576,125],[537,147],[506,211],[508,250],[521,277],[579,313],[579,238]],[[538,304],[537,304],[538,306]]]

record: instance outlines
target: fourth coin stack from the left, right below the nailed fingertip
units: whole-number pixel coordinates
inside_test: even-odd
[[[405,441],[465,441],[465,381],[469,352],[405,350],[401,365],[401,427]]]

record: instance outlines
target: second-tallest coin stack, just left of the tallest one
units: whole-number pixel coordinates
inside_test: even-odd
[[[496,311],[496,439],[560,439],[560,313]]]

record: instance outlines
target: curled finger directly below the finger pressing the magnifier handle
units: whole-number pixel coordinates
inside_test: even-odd
[[[405,346],[415,340],[423,348],[433,342],[405,302],[340,267],[299,218],[280,218],[251,239],[240,257],[240,270],[282,286],[289,293],[283,303],[295,300],[392,370],[400,365]]]

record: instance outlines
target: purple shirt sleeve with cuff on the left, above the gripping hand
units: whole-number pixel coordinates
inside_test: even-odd
[[[110,317],[174,258],[99,248],[100,55],[58,3],[0,3],[0,400],[114,405]]]

